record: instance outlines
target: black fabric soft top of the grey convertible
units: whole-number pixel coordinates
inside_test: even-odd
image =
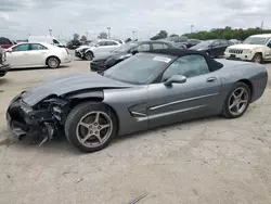
[[[168,54],[168,55],[175,55],[175,56],[184,56],[189,54],[199,54],[205,58],[210,72],[217,71],[219,68],[223,67],[223,64],[217,62],[216,60],[209,58],[205,52],[196,51],[196,50],[185,50],[185,49],[158,49],[158,50],[152,50],[147,51],[149,53],[157,53],[157,54]]]

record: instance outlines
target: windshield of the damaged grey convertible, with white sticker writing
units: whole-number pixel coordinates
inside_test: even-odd
[[[173,59],[162,54],[138,53],[107,69],[104,76],[122,82],[146,85]]]

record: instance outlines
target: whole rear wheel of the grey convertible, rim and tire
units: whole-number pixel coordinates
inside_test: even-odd
[[[251,92],[244,82],[236,82],[225,98],[222,115],[228,118],[241,117],[247,110]]]

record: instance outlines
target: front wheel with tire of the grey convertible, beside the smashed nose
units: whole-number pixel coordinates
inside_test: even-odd
[[[96,118],[100,119],[94,120]],[[75,148],[81,152],[91,153],[109,144],[117,135],[117,117],[111,107],[102,103],[86,102],[72,110],[64,129],[67,140]],[[109,127],[106,127],[107,125]]]

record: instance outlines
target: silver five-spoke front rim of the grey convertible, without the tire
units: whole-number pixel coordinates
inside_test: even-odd
[[[96,148],[107,141],[113,130],[113,122],[104,112],[90,112],[81,117],[76,136],[87,148]]]

